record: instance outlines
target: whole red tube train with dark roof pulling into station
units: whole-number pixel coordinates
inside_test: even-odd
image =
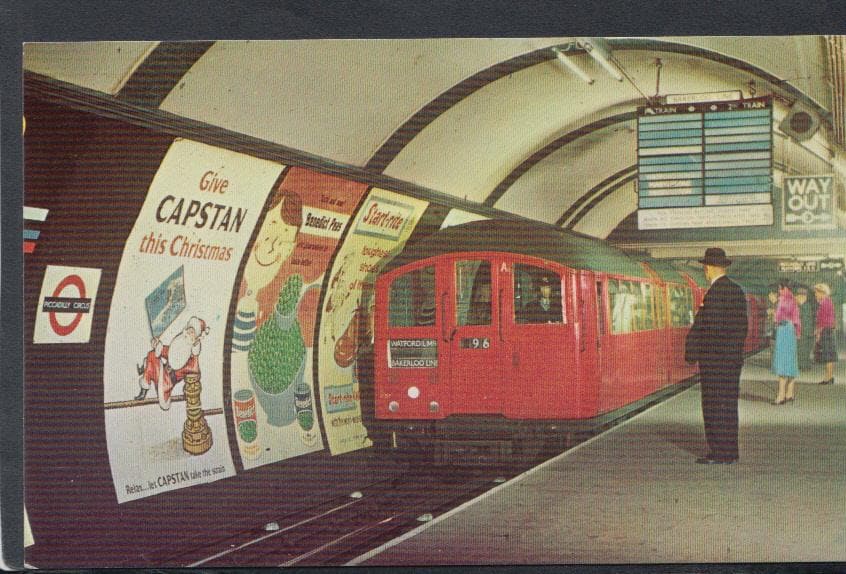
[[[426,432],[592,419],[688,379],[692,275],[529,222],[409,244],[376,280],[376,419]]]

